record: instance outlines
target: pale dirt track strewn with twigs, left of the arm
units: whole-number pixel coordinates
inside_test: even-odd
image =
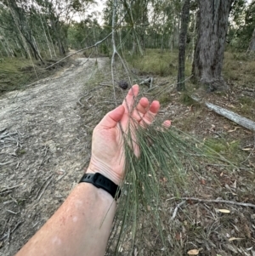
[[[77,59],[0,99],[0,255],[16,253],[80,179],[95,117],[106,111],[90,111],[96,101],[86,82],[105,61],[95,68],[95,60]]]

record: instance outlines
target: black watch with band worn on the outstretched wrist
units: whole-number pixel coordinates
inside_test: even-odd
[[[118,199],[121,196],[120,187],[102,174],[84,174],[79,183],[81,182],[91,183],[97,188],[107,191],[115,199]]]

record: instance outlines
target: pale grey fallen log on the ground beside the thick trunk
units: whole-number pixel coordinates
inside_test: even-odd
[[[193,100],[197,101],[197,102],[201,102],[201,100],[195,96],[191,96]],[[238,114],[235,114],[235,112],[233,111],[228,111],[226,109],[224,109],[223,107],[220,107],[218,105],[214,105],[212,103],[209,103],[207,101],[203,102],[204,105],[207,106],[207,108],[211,111],[216,112],[218,115],[221,115],[223,117],[228,118],[229,120],[241,125],[244,128],[247,128],[253,132],[255,132],[255,122],[253,122],[252,120],[246,118],[246,117],[241,117]]]

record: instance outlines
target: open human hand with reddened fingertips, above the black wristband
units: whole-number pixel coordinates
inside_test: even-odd
[[[150,125],[154,121],[160,104],[154,100],[151,104],[147,98],[139,100],[133,108],[136,97],[139,94],[139,86],[133,85],[122,105],[109,112],[94,128],[92,137],[92,154],[88,166],[88,173],[100,173],[111,179],[116,185],[120,185],[125,167],[125,152],[122,144],[123,132],[126,134],[128,127]],[[130,110],[133,110],[130,113]],[[164,125],[169,127],[170,121]],[[133,150],[139,156],[139,145],[133,138]]]

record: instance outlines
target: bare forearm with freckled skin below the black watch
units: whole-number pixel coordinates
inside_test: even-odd
[[[115,212],[108,192],[81,183],[16,256],[104,255]]]

